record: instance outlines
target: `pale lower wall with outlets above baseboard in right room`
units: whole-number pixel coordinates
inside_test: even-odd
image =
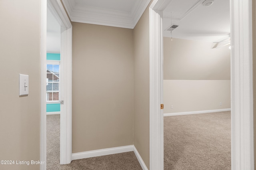
[[[216,109],[230,109],[230,80],[164,80],[164,113]]]

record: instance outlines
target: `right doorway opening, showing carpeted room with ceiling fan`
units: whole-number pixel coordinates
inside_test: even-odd
[[[164,169],[231,169],[229,0],[184,2],[163,11]]]

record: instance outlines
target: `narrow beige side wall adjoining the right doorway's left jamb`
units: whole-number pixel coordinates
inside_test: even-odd
[[[149,169],[149,8],[135,26],[133,34],[134,146]]]

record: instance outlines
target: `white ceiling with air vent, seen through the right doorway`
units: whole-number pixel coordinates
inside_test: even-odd
[[[170,31],[166,30],[172,23],[179,25],[172,31],[173,38],[205,42],[229,40],[229,0],[214,0],[208,7],[202,2],[204,0],[172,0],[163,12],[164,36],[171,37]]]

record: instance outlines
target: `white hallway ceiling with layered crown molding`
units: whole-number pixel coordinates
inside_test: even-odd
[[[62,0],[70,20],[134,28],[150,0]]]

